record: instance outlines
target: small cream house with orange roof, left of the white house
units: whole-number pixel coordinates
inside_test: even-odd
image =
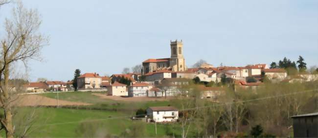
[[[108,87],[108,95],[110,96],[128,96],[127,90],[126,90],[127,85],[119,83],[115,81],[111,86]]]

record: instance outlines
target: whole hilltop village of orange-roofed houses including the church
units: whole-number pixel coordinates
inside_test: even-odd
[[[170,41],[171,57],[146,59],[140,72],[100,76],[84,73],[76,80],[30,82],[27,91],[107,91],[109,96],[121,97],[167,97],[180,94],[178,87],[194,83],[200,85],[202,98],[215,98],[223,91],[223,84],[233,84],[234,89],[261,87],[264,81],[290,82],[317,80],[317,75],[291,77],[284,68],[269,68],[267,64],[250,64],[242,67],[219,66],[202,63],[200,67],[188,68],[183,57],[182,40]],[[76,81],[76,88],[74,87]]]

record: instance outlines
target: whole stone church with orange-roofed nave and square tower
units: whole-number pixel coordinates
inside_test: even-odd
[[[185,71],[185,61],[183,58],[183,43],[181,41],[171,41],[171,57],[166,59],[147,59],[142,62],[142,74],[156,72],[160,70],[170,70],[173,72]]]

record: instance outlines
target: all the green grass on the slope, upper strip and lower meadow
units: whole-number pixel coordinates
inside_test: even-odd
[[[56,93],[41,94],[42,96],[56,99]],[[68,101],[80,101],[92,103],[93,105],[81,107],[93,107],[103,110],[88,109],[66,109],[46,107],[21,107],[15,116],[17,136],[21,136],[23,130],[28,126],[28,117],[34,113],[31,119],[32,127],[27,137],[46,138],[78,138],[78,137],[133,137],[129,131],[139,131],[144,127],[143,135],[138,137],[165,137],[168,135],[180,137],[181,128],[178,124],[157,124],[157,135],[155,124],[131,120],[136,114],[136,109],[146,109],[149,106],[167,106],[169,101],[114,101],[100,99],[91,95],[91,92],[59,93],[59,99]],[[116,109],[116,110],[107,110]],[[4,131],[1,130],[1,136]]]

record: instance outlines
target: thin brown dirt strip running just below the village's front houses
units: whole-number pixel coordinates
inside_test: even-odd
[[[173,97],[161,98],[149,98],[149,97],[119,97],[119,96],[107,96],[104,94],[92,93],[92,95],[98,96],[101,99],[112,99],[112,100],[122,100],[122,101],[165,101],[174,99]]]

